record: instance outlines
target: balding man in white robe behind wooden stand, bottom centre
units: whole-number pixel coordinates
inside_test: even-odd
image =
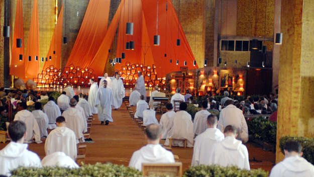
[[[157,124],[150,124],[145,129],[147,145],[133,153],[129,166],[142,170],[142,163],[174,163],[172,152],[160,144],[161,128]]]

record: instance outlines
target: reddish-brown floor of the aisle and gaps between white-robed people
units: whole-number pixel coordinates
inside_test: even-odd
[[[135,108],[134,108],[135,109]],[[114,122],[109,125],[100,125],[95,115],[91,127],[91,138],[94,143],[85,143],[87,152],[85,163],[111,162],[115,164],[128,165],[134,151],[146,144],[144,132],[131,119],[123,104],[119,110],[113,110]],[[157,114],[160,119],[161,114]],[[5,144],[0,144],[2,149]],[[254,143],[247,143],[249,158],[261,160],[261,162],[250,162],[251,168],[263,168],[270,170],[275,161],[275,154],[263,151]],[[41,158],[45,156],[44,143],[29,144],[29,149],[36,152]],[[172,153],[179,156],[183,163],[183,170],[191,163],[193,148],[173,147]]]

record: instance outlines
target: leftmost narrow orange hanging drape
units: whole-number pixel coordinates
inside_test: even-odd
[[[17,39],[22,39],[22,48],[17,48]],[[19,55],[23,55],[23,60],[20,61]],[[13,45],[10,62],[10,75],[15,75],[20,78],[25,77],[24,73],[24,30],[23,30],[23,4],[22,0],[17,0],[17,8],[15,13],[15,26],[13,34]]]

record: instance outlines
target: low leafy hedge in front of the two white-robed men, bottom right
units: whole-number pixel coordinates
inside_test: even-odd
[[[266,177],[268,172],[263,169],[239,169],[237,166],[223,167],[219,165],[190,166],[184,171],[183,177],[207,177],[207,176],[233,176],[233,177]]]

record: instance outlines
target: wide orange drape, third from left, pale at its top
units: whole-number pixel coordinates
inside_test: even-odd
[[[94,58],[108,27],[110,0],[90,0],[66,66],[86,66]]]

